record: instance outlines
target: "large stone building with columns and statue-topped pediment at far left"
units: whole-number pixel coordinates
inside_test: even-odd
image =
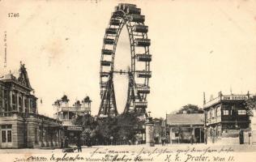
[[[0,78],[0,148],[59,147],[62,122],[38,114],[25,65]]]

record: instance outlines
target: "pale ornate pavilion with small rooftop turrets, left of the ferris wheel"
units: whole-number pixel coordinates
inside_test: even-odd
[[[75,121],[78,117],[91,113],[91,103],[89,96],[85,97],[81,102],[75,101],[73,106],[69,106],[69,99],[66,95],[61,100],[56,100],[53,106],[56,108],[56,119],[62,121],[64,137],[69,139],[70,144],[75,144],[75,139],[80,138],[83,127],[78,126]]]

